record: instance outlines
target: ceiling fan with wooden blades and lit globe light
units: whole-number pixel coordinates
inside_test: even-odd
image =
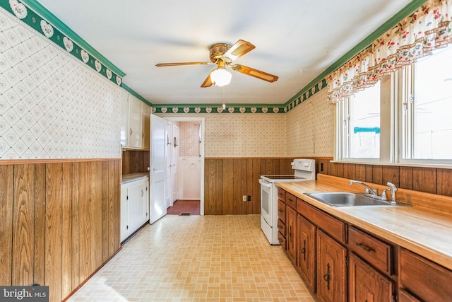
[[[182,63],[160,63],[155,66],[179,66],[179,65],[213,65],[217,67],[210,71],[206,80],[202,83],[201,87],[206,88],[212,85],[225,86],[230,83],[232,75],[226,70],[226,66],[229,66],[232,70],[246,74],[248,76],[254,76],[257,79],[263,81],[274,82],[278,80],[278,76],[273,74],[267,74],[266,72],[247,67],[240,64],[232,64],[235,59],[242,57],[244,54],[251,52],[256,48],[250,42],[244,40],[238,40],[234,45],[227,43],[215,43],[210,45],[210,62],[182,62]]]

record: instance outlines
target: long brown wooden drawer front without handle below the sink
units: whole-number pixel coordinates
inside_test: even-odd
[[[312,207],[302,199],[297,199],[297,211],[323,231],[329,233],[333,238],[345,243],[345,223]]]

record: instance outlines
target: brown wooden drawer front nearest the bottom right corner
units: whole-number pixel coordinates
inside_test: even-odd
[[[400,286],[423,301],[451,301],[452,272],[413,252],[400,249]]]

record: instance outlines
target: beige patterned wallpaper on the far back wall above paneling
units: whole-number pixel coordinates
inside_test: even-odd
[[[160,117],[179,117],[159,114]],[[195,114],[205,117],[206,157],[284,157],[285,115],[265,113]]]

